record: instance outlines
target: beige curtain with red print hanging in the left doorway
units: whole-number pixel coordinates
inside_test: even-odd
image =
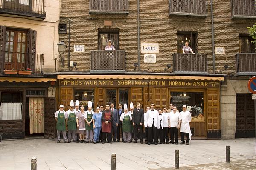
[[[44,98],[29,98],[30,134],[44,133]]]

